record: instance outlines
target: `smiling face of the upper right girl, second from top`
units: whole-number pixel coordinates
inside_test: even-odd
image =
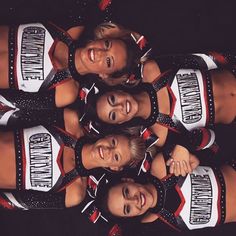
[[[100,120],[109,124],[122,124],[136,116],[138,103],[126,92],[112,91],[98,99],[96,109]]]

